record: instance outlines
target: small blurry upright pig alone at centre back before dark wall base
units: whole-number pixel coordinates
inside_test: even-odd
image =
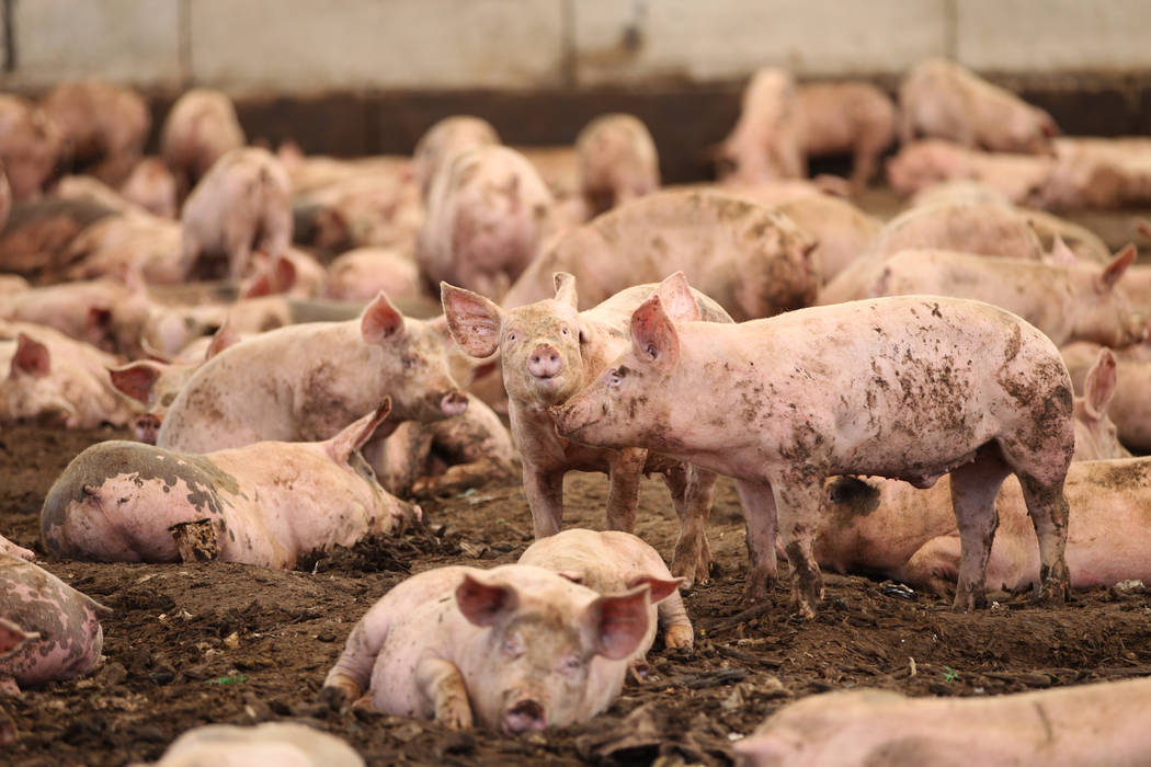
[[[576,137],[580,190],[599,215],[660,189],[660,155],[647,126],[627,114],[600,115]]]

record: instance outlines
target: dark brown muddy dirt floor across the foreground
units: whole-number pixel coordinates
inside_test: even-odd
[[[0,432],[0,530],[43,555],[38,516],[48,486],[85,446],[121,436]],[[605,496],[601,475],[570,475],[566,523],[602,527]],[[0,699],[18,730],[0,762],[154,760],[199,724],[297,720],[345,738],[369,765],[716,765],[729,764],[732,741],[767,714],[829,690],[975,696],[1151,674],[1146,592],[1078,592],[1058,609],[1000,593],[992,609],[965,615],[940,598],[907,599],[879,582],[829,575],[814,621],[787,615],[784,585],[765,609],[744,612],[742,524],[734,492],[723,486],[709,528],[718,573],[687,595],[694,654],[657,642],[647,677],[628,681],[593,721],[517,738],[330,711],[318,701],[323,676],[375,599],[410,573],[511,562],[529,543],[518,484],[424,507],[424,529],[294,572],[40,562],[115,615],[104,621],[106,659],[93,674]],[[666,491],[648,481],[638,532],[670,555],[676,531]]]

